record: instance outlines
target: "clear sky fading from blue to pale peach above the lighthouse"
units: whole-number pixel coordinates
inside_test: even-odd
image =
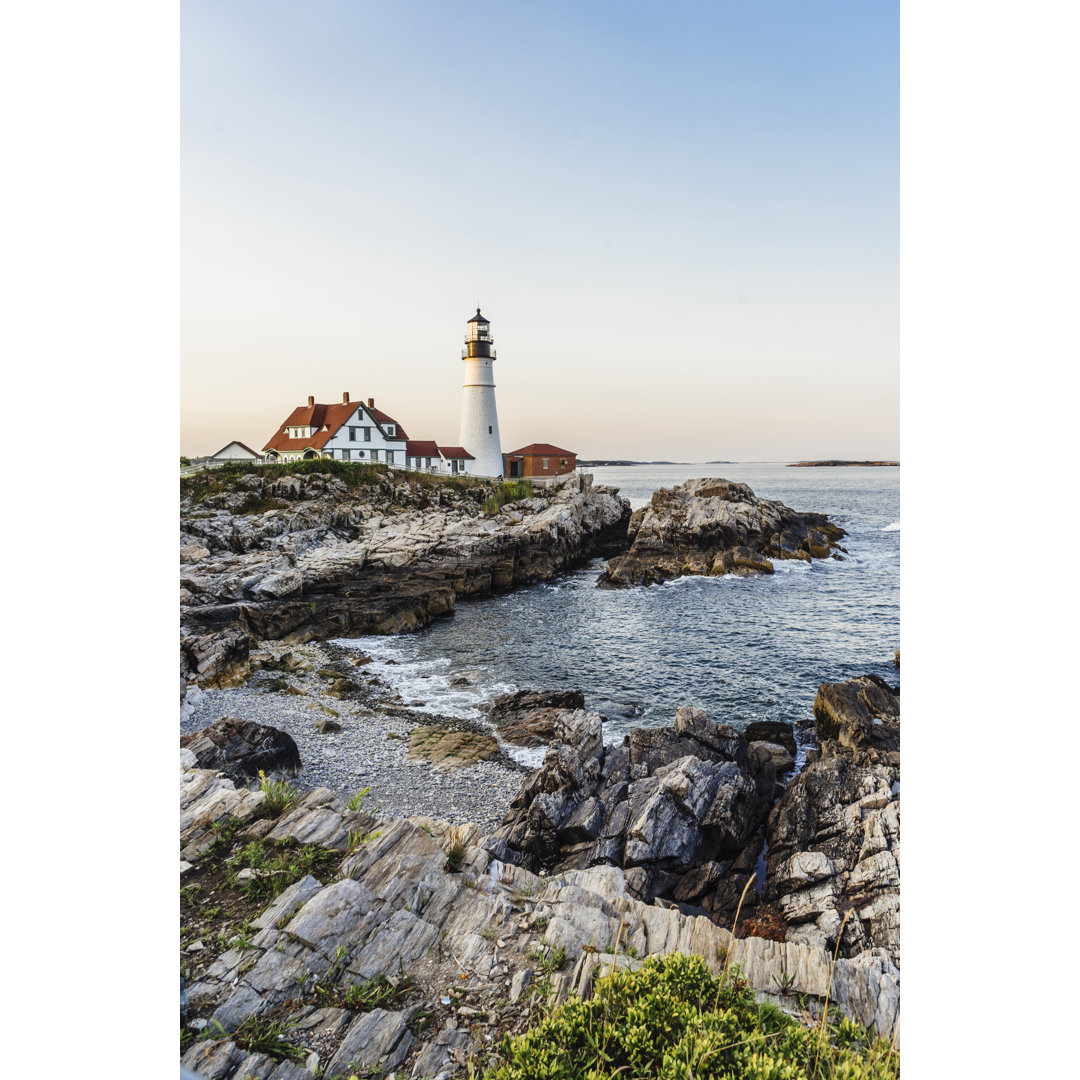
[[[180,448],[900,455],[894,3],[180,3]]]

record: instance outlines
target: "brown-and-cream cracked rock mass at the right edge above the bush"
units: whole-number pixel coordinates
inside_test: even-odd
[[[787,941],[900,963],[900,696],[873,675],[824,684],[819,752],[769,816],[765,895]]]

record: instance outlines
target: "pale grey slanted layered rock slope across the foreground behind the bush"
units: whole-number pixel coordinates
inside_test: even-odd
[[[249,937],[211,955],[189,980],[188,1023],[210,1021],[225,1032],[184,1053],[181,1063],[204,1077],[308,1080],[316,1069],[446,1077],[467,1054],[528,1024],[534,988],[551,1003],[584,997],[612,966],[673,951],[698,954],[714,972],[729,955],[750,985],[781,1008],[793,1008],[800,995],[801,1005],[820,1013],[828,994],[831,1009],[878,1034],[890,1035],[896,1024],[899,983],[882,957],[840,960],[829,980],[824,949],[737,940],[707,918],[642,903],[618,867],[541,877],[492,860],[475,829],[455,833],[430,819],[377,822],[318,789],[268,819],[261,793],[186,768],[190,761],[181,752],[181,859],[192,860],[181,863],[181,875],[185,867],[197,875],[214,860],[220,834],[212,826],[229,821],[238,846],[315,842],[340,855],[322,878],[309,874],[288,886],[254,917]],[[357,843],[359,834],[366,839]],[[447,858],[455,842],[457,873]],[[603,951],[617,941],[619,956]],[[543,964],[550,977],[541,984],[534,976]],[[335,988],[343,996],[380,976],[402,990],[383,1007],[360,1012],[325,1003]],[[283,1023],[302,1047],[303,1064],[279,1065],[244,1050],[232,1032],[253,1016]]]

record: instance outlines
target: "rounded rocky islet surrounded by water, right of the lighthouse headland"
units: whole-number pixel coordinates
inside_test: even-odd
[[[650,585],[683,575],[772,573],[774,558],[841,558],[843,529],[758,499],[745,484],[691,480],[661,488],[634,511],[630,549],[599,578],[607,588]]]

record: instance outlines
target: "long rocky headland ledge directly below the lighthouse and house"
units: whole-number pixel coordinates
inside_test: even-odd
[[[589,475],[485,516],[490,494],[407,474],[360,489],[311,474],[247,475],[234,490],[189,495],[181,676],[241,677],[258,639],[417,630],[459,597],[544,581],[624,543],[629,503]]]

